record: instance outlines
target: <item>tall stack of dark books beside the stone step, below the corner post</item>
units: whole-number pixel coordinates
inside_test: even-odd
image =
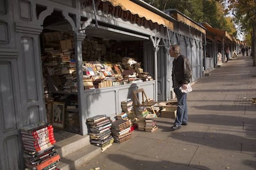
[[[90,143],[101,147],[105,151],[111,147],[114,138],[111,134],[111,119],[106,114],[93,116],[87,119]]]

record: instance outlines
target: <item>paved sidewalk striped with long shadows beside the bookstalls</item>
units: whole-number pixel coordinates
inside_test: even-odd
[[[158,117],[156,132],[132,132],[79,169],[256,169],[256,67],[224,63],[192,85],[189,125]]]

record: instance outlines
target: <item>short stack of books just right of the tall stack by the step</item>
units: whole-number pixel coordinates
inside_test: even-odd
[[[116,143],[122,143],[132,137],[130,122],[123,119],[114,121],[111,125],[111,131]]]

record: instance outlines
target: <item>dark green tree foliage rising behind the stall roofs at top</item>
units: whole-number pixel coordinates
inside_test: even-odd
[[[164,11],[177,9],[195,22],[207,22],[211,27],[226,30],[236,35],[234,23],[225,17],[223,1],[216,0],[145,0],[152,6]]]

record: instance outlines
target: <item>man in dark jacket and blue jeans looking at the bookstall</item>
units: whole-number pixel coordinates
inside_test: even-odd
[[[181,54],[179,45],[172,45],[169,49],[169,54],[174,57],[173,61],[173,88],[177,96],[177,117],[171,130],[180,129],[181,125],[187,125],[187,93],[182,93],[179,88],[187,89],[187,85],[192,78],[192,70],[189,59]]]

